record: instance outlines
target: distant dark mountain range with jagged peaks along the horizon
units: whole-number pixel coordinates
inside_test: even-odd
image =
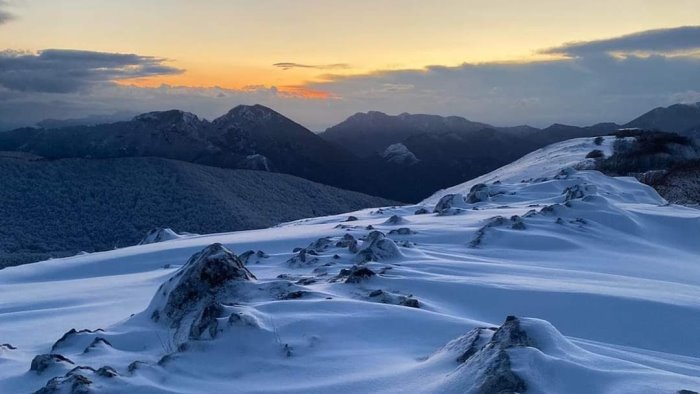
[[[411,202],[548,144],[621,127],[700,135],[700,104],[656,108],[624,125],[544,129],[371,111],[320,134],[262,105],[242,105],[211,122],[171,110],[92,126],[16,129],[0,133],[0,150],[51,159],[154,156],[281,172]]]

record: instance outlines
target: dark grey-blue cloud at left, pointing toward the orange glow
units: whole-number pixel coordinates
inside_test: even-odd
[[[47,49],[0,52],[0,86],[25,92],[70,93],[115,80],[177,74],[164,59],[135,54]]]

